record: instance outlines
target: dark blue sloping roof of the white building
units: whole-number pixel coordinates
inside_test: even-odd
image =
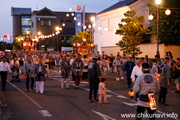
[[[114,10],[114,9],[129,5],[129,4],[131,4],[131,3],[135,2],[135,1],[137,1],[137,0],[120,0],[118,3],[112,5],[111,7],[107,8],[107,9],[101,11],[101,12],[99,12],[98,14],[108,12],[108,11],[111,11],[111,10]]]

